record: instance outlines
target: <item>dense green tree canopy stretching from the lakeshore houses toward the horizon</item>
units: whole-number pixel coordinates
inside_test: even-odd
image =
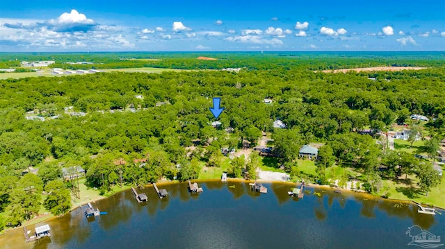
[[[49,60],[62,55],[8,56],[14,60],[19,56],[19,60]],[[108,60],[108,54],[100,56],[104,62]],[[124,55],[109,57],[113,56]],[[128,58],[136,56],[127,54]],[[141,186],[161,178],[186,180],[197,178],[201,162],[218,166],[221,148],[242,148],[244,140],[256,145],[262,131],[272,133],[274,149],[287,171],[292,173],[298,166],[295,160],[300,146],[323,142],[318,180],[324,182],[325,168],[336,163],[366,172],[369,191],[373,191],[373,183],[382,174],[378,171],[381,164],[402,173],[416,173],[423,164],[414,155],[384,155],[373,137],[357,131],[387,130],[391,123],[409,123],[411,114],[422,114],[430,118],[426,127],[433,139],[445,135],[443,60],[407,58],[396,62],[394,58],[334,56],[298,60],[289,55],[232,60],[225,54],[227,60],[196,62],[194,54],[189,56],[195,62],[192,58],[127,60],[110,61],[104,67],[148,63],[149,67],[188,69],[204,65],[246,68],[239,73],[116,72],[0,80],[0,230],[37,214],[40,203],[56,215],[70,209],[73,186],[63,182],[62,167],[82,166],[86,184],[102,193],[115,184]],[[348,74],[312,71],[388,63],[441,67]],[[220,97],[225,108],[218,119],[220,128],[211,126],[215,121],[209,111],[213,97]],[[264,98],[273,103],[264,103]],[[86,115],[74,115],[82,112]],[[45,121],[25,117],[43,117]],[[287,128],[274,129],[277,119]],[[230,135],[225,130],[228,127],[234,128]],[[195,150],[188,153],[191,146]],[[246,166],[234,160],[230,173],[241,176],[245,167],[246,177],[253,178],[256,160],[252,156]],[[26,173],[30,166],[39,169],[36,175]],[[428,191],[431,184],[425,185]]]

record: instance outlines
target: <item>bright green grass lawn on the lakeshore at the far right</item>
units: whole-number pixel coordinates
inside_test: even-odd
[[[445,208],[445,179],[442,177],[442,182],[430,190],[428,196],[426,193],[420,191],[417,187],[418,180],[414,175],[408,175],[408,181],[405,182],[405,175],[401,180],[383,180],[383,187],[380,195],[389,194],[389,198],[398,200],[414,200],[416,203],[425,203],[428,205],[435,205],[437,207]]]

